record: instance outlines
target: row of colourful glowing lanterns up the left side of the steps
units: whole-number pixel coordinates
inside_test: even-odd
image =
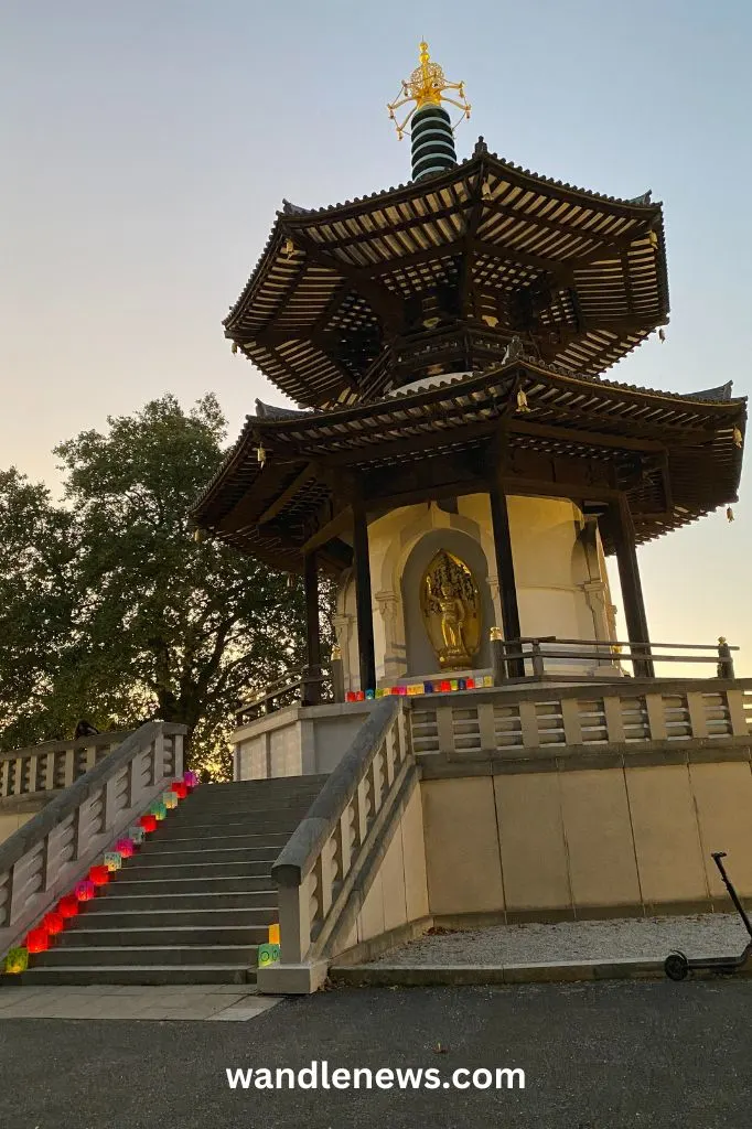
[[[8,952],[2,970],[7,973],[25,972],[29,954],[45,953],[50,948],[51,938],[61,934],[67,922],[78,916],[80,903],[91,901],[97,890],[107,885],[111,874],[120,870],[123,859],[133,857],[135,848],[145,841],[147,834],[156,831],[167,812],[177,807],[180,800],[186,799],[198,784],[199,778],[191,770],[186,770],[181,780],[174,780],[161,797],[151,804],[148,813],[129,829],[126,835],[117,840],[113,850],[106,851],[103,861],[90,867],[88,876],[78,882],[73,891],[61,898],[55,908],[49,910],[38,925],[29,930],[25,944]]]

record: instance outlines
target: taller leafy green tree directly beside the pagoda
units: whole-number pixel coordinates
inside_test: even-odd
[[[301,588],[192,537],[189,508],[222,460],[226,422],[213,396],[186,413],[166,395],[107,422],[106,435],[85,431],[55,452],[68,587],[37,716],[69,726],[76,715],[99,726],[178,721],[194,762],[217,771],[238,699],[303,665]],[[29,616],[41,615],[37,599]]]

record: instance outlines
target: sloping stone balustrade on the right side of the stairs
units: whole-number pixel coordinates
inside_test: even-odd
[[[375,706],[272,867],[283,965],[318,957],[336,925],[368,854],[369,832],[412,764],[404,710],[396,695]]]

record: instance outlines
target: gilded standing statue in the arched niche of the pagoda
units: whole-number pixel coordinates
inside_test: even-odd
[[[423,622],[440,669],[472,667],[481,638],[481,604],[473,575],[441,549],[421,583]]]

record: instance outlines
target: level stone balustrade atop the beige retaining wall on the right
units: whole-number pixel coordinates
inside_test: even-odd
[[[623,680],[587,686],[470,690],[410,700],[419,762],[556,756],[600,745],[633,752],[698,742],[749,744],[752,680]]]

